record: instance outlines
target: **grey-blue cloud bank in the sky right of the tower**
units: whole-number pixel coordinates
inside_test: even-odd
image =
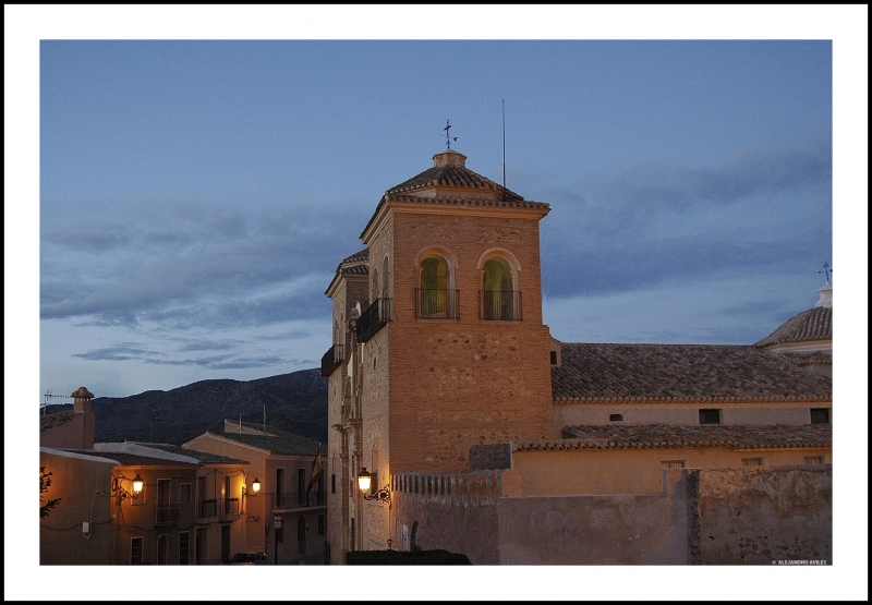
[[[747,153],[715,168],[637,165],[553,189],[542,225],[549,297],[619,292],[674,278],[809,268],[832,257],[828,146]]]

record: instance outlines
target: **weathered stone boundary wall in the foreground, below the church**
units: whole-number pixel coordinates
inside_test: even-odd
[[[832,465],[663,471],[655,494],[513,496],[511,471],[398,473],[392,539],[473,565],[832,562]],[[785,564],[783,564],[785,565]]]

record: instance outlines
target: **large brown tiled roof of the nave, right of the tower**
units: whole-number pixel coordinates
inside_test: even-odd
[[[730,344],[564,343],[555,401],[829,401],[833,382]]]

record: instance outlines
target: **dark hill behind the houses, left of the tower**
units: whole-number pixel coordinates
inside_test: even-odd
[[[48,406],[46,413],[72,409]],[[181,445],[206,431],[222,431],[225,419],[261,424],[327,441],[327,378],[301,370],[256,380],[201,380],[172,390],[130,397],[96,397],[95,439]]]

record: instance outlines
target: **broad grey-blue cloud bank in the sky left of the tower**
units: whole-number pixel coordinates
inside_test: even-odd
[[[336,264],[360,247],[359,217],[341,205],[288,203],[241,211],[191,203],[160,209],[167,214],[132,209],[141,214],[131,220],[142,227],[102,239],[95,233],[117,228],[114,219],[100,223],[99,214],[74,213],[93,247],[71,243],[62,230],[49,231],[41,317],[124,326],[170,322],[177,329],[317,317],[329,313],[323,292]],[[326,242],[336,254],[322,253]]]

